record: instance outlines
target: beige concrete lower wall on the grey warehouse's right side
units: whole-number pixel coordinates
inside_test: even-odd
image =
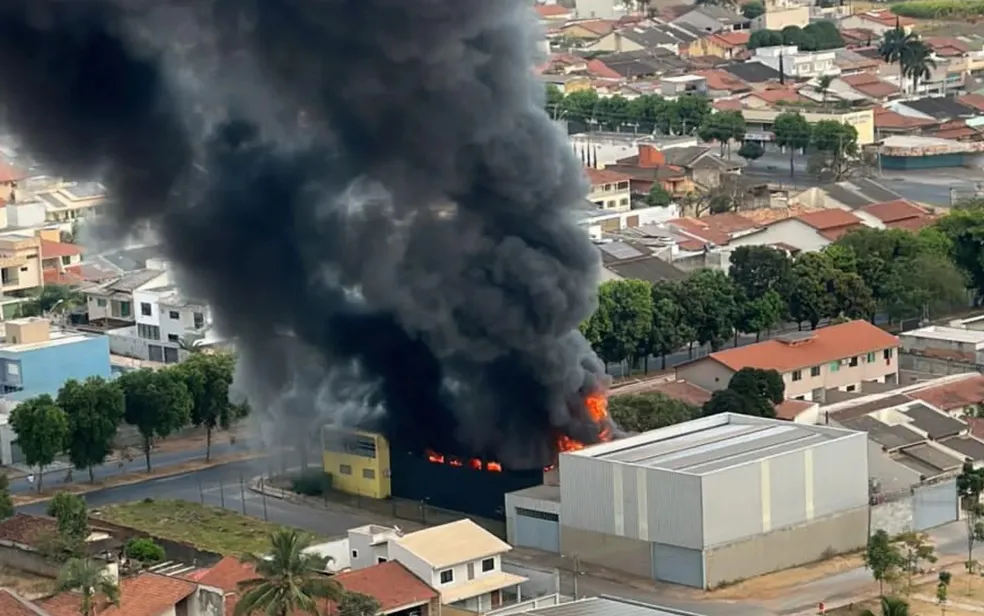
[[[704,552],[709,588],[856,550],[868,541],[868,508],[751,537]]]

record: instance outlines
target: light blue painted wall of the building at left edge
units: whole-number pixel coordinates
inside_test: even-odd
[[[69,379],[90,376],[110,378],[109,338],[91,336],[77,342],[53,344],[38,349],[16,351],[0,349],[0,384],[17,384],[9,364],[20,364],[23,391],[4,394],[8,400],[26,400],[41,394],[58,393]]]

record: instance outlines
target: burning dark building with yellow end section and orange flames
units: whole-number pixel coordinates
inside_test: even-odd
[[[607,400],[587,399],[599,439],[612,439]],[[551,468],[512,470],[495,460],[460,457],[433,450],[414,451],[383,435],[337,426],[322,429],[324,469],[339,491],[367,498],[402,498],[422,505],[505,519],[505,495],[544,483]],[[585,447],[568,436],[557,437],[558,451]]]

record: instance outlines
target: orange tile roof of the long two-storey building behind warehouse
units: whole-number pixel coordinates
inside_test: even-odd
[[[748,346],[711,353],[706,358],[731,370],[762,368],[789,372],[899,346],[899,339],[867,321],[849,321],[813,332],[796,342],[765,340]],[[875,361],[881,361],[879,355]]]

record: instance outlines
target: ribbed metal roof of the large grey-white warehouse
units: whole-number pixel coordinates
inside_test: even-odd
[[[691,429],[687,430],[687,427]],[[764,457],[819,445],[835,438],[838,435],[832,434],[830,430],[821,430],[815,426],[761,418],[737,419],[725,414],[684,422],[601,447],[589,448],[582,455],[635,466],[705,475]]]

